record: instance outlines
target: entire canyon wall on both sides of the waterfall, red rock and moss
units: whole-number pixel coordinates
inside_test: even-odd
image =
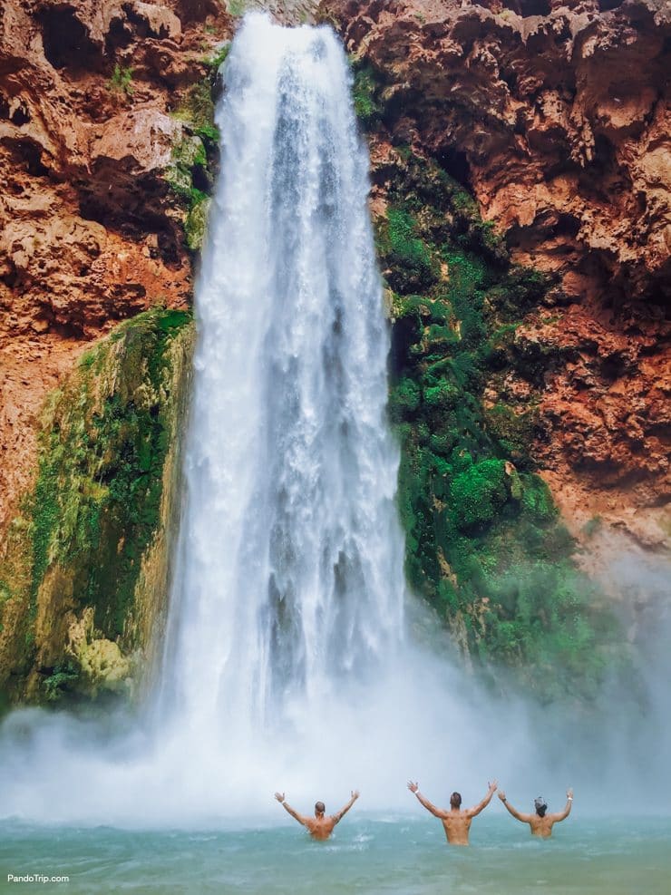
[[[589,689],[620,635],[585,573],[668,550],[664,0],[4,5],[5,691],[116,691],[151,651],[217,70],[248,6],[332,24],[353,59],[413,589],[467,664],[549,655]]]

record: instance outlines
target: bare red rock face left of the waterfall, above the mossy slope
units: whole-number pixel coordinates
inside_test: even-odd
[[[0,9],[0,531],[34,477],[44,395],[86,343],[190,301],[172,112],[229,31],[216,0]]]

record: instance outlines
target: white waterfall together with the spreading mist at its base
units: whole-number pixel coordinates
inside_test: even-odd
[[[449,647],[413,646],[423,610],[404,592],[388,332],[345,54],[326,28],[249,15],[226,65],[160,684],[140,720],[10,715],[0,812],[244,826],[287,822],[276,790],[304,812],[353,788],[356,811],[414,812],[409,778],[435,803],[458,789],[471,804],[495,777],[520,808],[540,792],[559,807],[572,784],[585,813],[639,787],[635,808],[667,812],[666,720],[651,743],[615,697],[595,724],[488,696]],[[647,711],[666,719],[655,680]]]

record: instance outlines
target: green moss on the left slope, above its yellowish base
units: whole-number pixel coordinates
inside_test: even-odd
[[[124,633],[141,555],[158,520],[168,449],[166,348],[189,319],[157,309],[117,327],[83,356],[43,435],[31,596],[56,561],[72,577],[75,602],[94,608],[96,629],[112,640]]]

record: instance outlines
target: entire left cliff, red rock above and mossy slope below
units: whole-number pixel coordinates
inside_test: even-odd
[[[216,0],[0,9],[0,689],[11,699],[124,690],[136,660],[151,660],[192,341],[189,215],[211,184],[210,88],[231,21]]]

